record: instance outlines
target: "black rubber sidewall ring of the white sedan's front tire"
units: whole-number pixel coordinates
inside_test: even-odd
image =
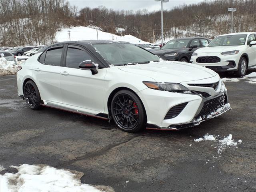
[[[136,94],[134,94],[133,92],[129,91],[129,90],[120,90],[118,91],[114,97],[112,98],[111,101],[111,114],[114,114],[113,112],[113,108],[114,108],[114,100],[117,96],[119,96],[120,94],[127,94],[128,96],[132,97],[132,99],[136,102],[137,106],[138,106],[138,110],[139,110],[139,118],[138,118],[138,123],[136,125],[135,128],[127,130],[125,128],[122,128],[121,126],[119,126],[115,120],[115,118],[112,116],[115,124],[123,131],[126,132],[130,132],[130,133],[134,133],[134,132],[139,132],[141,130],[144,130],[144,128],[146,128],[146,112],[144,109],[144,106],[142,105],[141,100],[138,98],[138,96],[136,96]]]

